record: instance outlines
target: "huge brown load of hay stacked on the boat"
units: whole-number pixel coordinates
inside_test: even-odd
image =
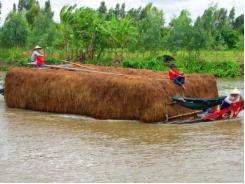
[[[88,67],[88,65],[84,65]],[[170,97],[211,98],[218,95],[215,78],[186,74],[186,89],[173,84],[166,72],[93,67],[93,71],[12,68],[5,79],[5,101],[12,108],[71,113],[98,119],[164,121],[166,115],[191,112],[169,105]]]

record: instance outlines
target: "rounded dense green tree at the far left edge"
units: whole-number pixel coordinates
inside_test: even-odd
[[[28,39],[28,23],[23,13],[10,12],[4,22],[1,43],[6,47],[24,47]]]

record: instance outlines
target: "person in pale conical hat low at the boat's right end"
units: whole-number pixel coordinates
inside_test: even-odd
[[[242,100],[241,92],[238,89],[233,89],[230,94],[223,100],[220,105],[220,110],[230,107],[233,103]]]

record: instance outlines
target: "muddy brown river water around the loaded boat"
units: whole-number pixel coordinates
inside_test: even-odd
[[[218,87],[220,95],[243,91],[243,81],[218,80]],[[241,121],[99,121],[10,109],[0,97],[0,135],[0,182],[244,180]]]

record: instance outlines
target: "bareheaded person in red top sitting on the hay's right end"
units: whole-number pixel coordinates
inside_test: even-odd
[[[184,77],[184,73],[179,72],[176,68],[175,64],[171,64],[168,72],[169,78],[170,80],[173,80],[173,82],[179,86],[181,86],[182,88],[185,89],[185,77]]]

